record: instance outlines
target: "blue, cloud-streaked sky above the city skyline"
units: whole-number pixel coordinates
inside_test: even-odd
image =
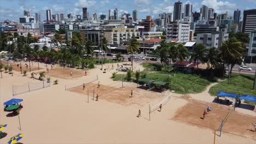
[[[18,21],[23,16],[24,9],[31,9],[31,14],[40,13],[41,20],[45,20],[46,9],[52,9],[53,14],[82,15],[82,7],[87,7],[89,16],[96,13],[97,17],[104,14],[108,17],[108,10],[118,8],[119,16],[138,10],[138,18],[146,19],[147,15],[157,18],[160,13],[173,13],[173,4],[176,0],[0,0],[0,22],[4,20]],[[256,0],[190,0],[184,4],[193,4],[193,11],[200,11],[201,5],[213,8],[216,13],[225,13],[232,16],[234,10],[256,8]],[[112,11],[113,13],[113,11]],[[113,15],[113,14],[112,14]]]

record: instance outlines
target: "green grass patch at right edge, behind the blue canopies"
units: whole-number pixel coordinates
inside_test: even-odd
[[[228,79],[226,79],[225,81],[219,82],[218,85],[211,87],[209,92],[211,95],[217,95],[219,91],[224,91],[240,95],[249,94],[256,96],[256,89],[252,89],[253,80],[254,75],[232,73],[230,84],[228,84]],[[246,103],[256,104],[249,101],[246,101]]]

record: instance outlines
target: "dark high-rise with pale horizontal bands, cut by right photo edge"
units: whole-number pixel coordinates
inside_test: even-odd
[[[243,10],[242,32],[250,34],[256,28],[256,9]]]

